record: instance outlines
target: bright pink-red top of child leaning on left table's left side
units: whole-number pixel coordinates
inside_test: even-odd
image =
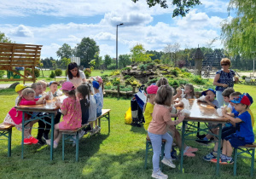
[[[20,101],[20,106],[24,105],[24,106],[31,106],[31,105],[36,105],[36,101],[38,101],[38,99],[35,99],[34,101],[27,101],[25,98],[22,98]],[[13,107],[10,111],[9,111],[9,116],[13,119],[13,121],[15,122],[15,124],[20,124],[22,122],[22,112],[21,111],[17,111],[15,109],[15,107]],[[27,114],[25,114],[25,118],[27,117]]]

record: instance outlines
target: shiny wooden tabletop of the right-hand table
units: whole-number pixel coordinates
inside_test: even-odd
[[[206,102],[200,102],[197,99],[189,99],[190,115],[185,117],[185,121],[198,121],[198,122],[218,122],[227,123],[228,118],[218,116],[216,109]],[[182,110],[183,107],[177,107],[177,110]]]

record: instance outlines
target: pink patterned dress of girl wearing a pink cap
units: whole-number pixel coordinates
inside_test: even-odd
[[[67,111],[59,126],[61,130],[75,130],[81,127],[82,112],[79,100],[67,97],[63,100],[61,111]]]

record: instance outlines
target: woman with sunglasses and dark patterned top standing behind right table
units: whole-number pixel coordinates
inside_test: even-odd
[[[218,101],[218,106],[221,107],[224,105],[224,98],[222,96],[222,92],[226,88],[234,87],[233,78],[236,76],[236,73],[233,70],[230,70],[231,61],[228,58],[223,58],[220,61],[220,65],[222,66],[222,70],[216,72],[213,85],[216,85],[216,98]],[[228,104],[226,104],[228,105]]]

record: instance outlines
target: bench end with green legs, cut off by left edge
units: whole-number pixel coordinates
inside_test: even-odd
[[[13,124],[0,124],[0,136],[4,136],[8,138],[8,157],[11,156],[12,150],[12,128],[15,125]],[[3,139],[1,139],[3,140]],[[5,140],[5,139],[4,139]]]

